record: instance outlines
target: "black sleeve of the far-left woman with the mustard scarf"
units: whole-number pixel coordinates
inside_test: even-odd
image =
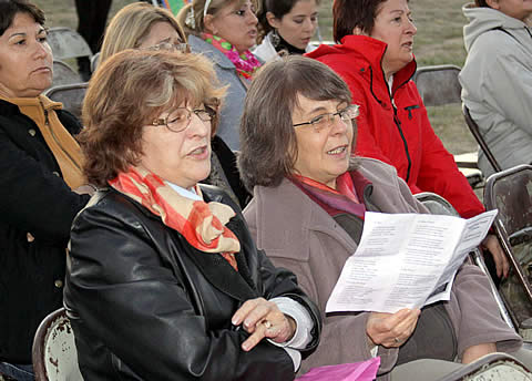
[[[22,126],[21,126],[22,128]],[[72,219],[89,200],[13,143],[0,127],[0,218],[53,244],[66,244]]]

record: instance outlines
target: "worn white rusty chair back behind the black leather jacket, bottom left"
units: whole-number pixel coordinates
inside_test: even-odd
[[[37,329],[32,362],[35,381],[83,381],[74,332],[64,308],[45,317]]]

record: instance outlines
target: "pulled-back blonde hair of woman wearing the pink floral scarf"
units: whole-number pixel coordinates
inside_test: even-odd
[[[180,13],[177,13],[177,21],[183,27],[186,34],[200,35],[205,31],[205,23],[203,21],[205,2],[205,0],[193,0],[191,3],[183,7]],[[245,2],[246,0],[212,0],[208,4],[207,14],[216,16],[221,9],[229,4],[236,3],[239,7]],[[255,6],[255,9],[257,9],[258,1],[252,0],[252,3]],[[192,16],[194,19],[193,22],[191,22]]]

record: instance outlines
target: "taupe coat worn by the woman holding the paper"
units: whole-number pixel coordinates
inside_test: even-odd
[[[396,169],[372,158],[361,158],[358,169],[372,183],[371,204],[382,213],[428,213],[411,195]],[[288,179],[275,188],[256,186],[244,212],[257,246],[276,266],[297,275],[300,287],[324,315],[317,351],[301,364],[310,368],[367,360],[371,357],[366,338],[369,313],[336,313],[325,317],[325,305],[346,259],[357,245],[317,204]],[[454,280],[451,300],[446,303],[458,337],[458,353],[472,344],[498,342],[500,351],[515,351],[521,339],[505,326],[489,289],[488,279],[474,266],[463,266]],[[379,347],[379,373],[389,372],[397,349]],[[386,379],[387,377],[385,377]]]

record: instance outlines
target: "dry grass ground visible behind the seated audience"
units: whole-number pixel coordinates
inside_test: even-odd
[[[78,17],[73,0],[33,0],[47,14],[48,27],[76,29]],[[83,0],[91,1],[91,0]],[[113,0],[111,17],[133,0]],[[466,51],[462,28],[467,22],[461,8],[467,0],[411,0],[409,6],[418,28],[415,53],[419,66],[452,63],[463,65]],[[330,0],[321,0],[319,9],[320,33],[332,40]],[[477,144],[469,133],[460,106],[429,107],[429,117],[436,133],[453,154],[474,151]]]

